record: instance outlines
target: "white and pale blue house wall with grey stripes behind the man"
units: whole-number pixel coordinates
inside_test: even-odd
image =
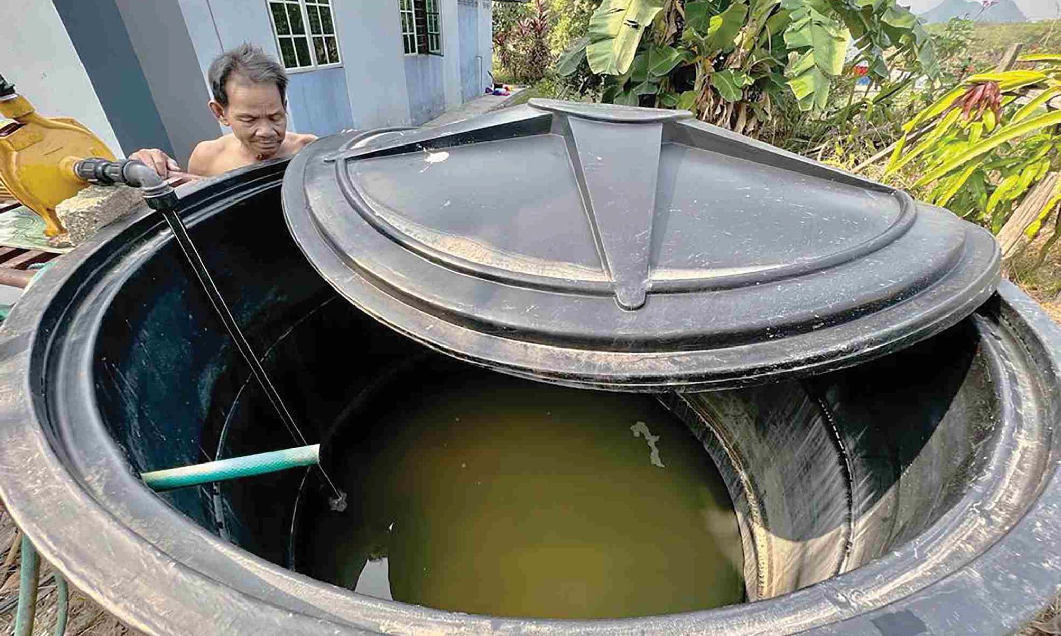
[[[485,86],[490,7],[489,0],[464,1],[476,13],[477,37],[469,24],[462,37],[458,0],[439,0],[442,56],[403,54],[398,0],[332,2],[343,64],[291,72],[292,128],[327,135],[420,124],[474,96],[480,89],[463,83],[462,61],[467,70],[469,59],[482,57]],[[106,46],[93,35],[100,5],[82,2],[24,0],[8,12],[0,41],[14,54],[3,71],[40,112],[79,119],[119,154],[154,145],[186,160],[195,143],[225,131],[206,106],[214,57],[242,42],[279,57],[266,0],[106,0],[105,23],[117,30]],[[125,38],[120,60],[128,69],[116,74],[106,54]],[[131,102],[134,84],[139,98]],[[129,147],[119,142],[126,138]]]

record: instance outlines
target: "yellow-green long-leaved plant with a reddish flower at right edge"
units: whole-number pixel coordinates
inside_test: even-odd
[[[968,77],[903,125],[885,176],[998,232],[1023,197],[1059,164],[1061,55],[1032,68]],[[905,179],[903,178],[905,177]],[[1058,205],[1051,197],[1029,232]]]

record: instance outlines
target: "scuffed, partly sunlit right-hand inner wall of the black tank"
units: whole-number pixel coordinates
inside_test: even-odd
[[[1001,419],[974,320],[807,381],[664,398],[723,473],[750,600],[882,556],[969,491]]]

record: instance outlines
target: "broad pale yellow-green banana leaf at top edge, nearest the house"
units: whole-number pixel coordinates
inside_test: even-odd
[[[664,0],[604,0],[593,12],[586,58],[597,74],[622,75],[630,68],[641,35]]]

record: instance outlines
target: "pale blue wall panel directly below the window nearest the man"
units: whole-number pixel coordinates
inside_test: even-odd
[[[288,84],[291,126],[317,137],[353,128],[353,112],[342,68],[292,73]]]

